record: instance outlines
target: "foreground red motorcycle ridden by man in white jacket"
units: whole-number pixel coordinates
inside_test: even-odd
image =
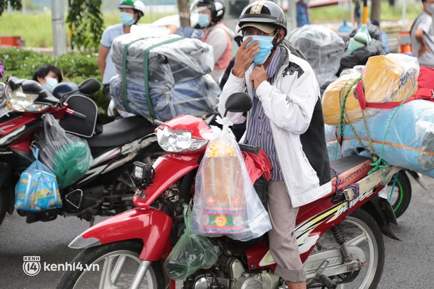
[[[247,94],[233,94],[226,102],[227,111],[250,108]],[[156,131],[169,155],[159,157],[153,166],[136,163],[132,176],[138,185],[133,199],[137,208],[76,237],[69,247],[85,248],[73,260],[83,269],[64,272],[57,288],[175,288],[162,264],[183,232],[183,204],[193,198],[195,175],[212,132],[203,120],[188,115],[169,120]],[[336,176],[330,194],[300,208],[295,234],[308,288],[377,288],[385,257],[382,234],[399,240],[390,226],[396,223],[391,206],[379,195],[400,168],[386,167],[368,175],[371,163],[357,155],[332,162]],[[283,286],[274,274],[276,264],[266,234],[248,242],[213,239],[220,247],[218,261],[188,276],[184,288]]]

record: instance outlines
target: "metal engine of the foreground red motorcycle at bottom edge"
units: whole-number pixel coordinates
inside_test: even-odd
[[[246,272],[244,266],[237,258],[228,258],[225,264],[228,269],[228,278],[216,278],[214,274],[201,274],[195,276],[194,289],[214,289],[216,281],[218,287],[228,289],[274,289],[280,286],[280,277],[272,272]]]

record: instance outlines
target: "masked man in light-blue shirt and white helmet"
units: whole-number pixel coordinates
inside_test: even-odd
[[[98,52],[98,67],[102,75],[102,87],[107,105],[111,100],[110,78],[116,76],[115,65],[111,61],[111,43],[116,37],[130,33],[131,26],[137,24],[140,17],[145,14],[145,5],[140,0],[121,0],[118,8],[122,23],[111,25],[104,30]]]

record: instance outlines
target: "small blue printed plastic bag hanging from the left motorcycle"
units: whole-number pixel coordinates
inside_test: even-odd
[[[37,212],[62,206],[55,174],[38,160],[39,150],[31,150],[36,160],[15,185],[15,209]]]

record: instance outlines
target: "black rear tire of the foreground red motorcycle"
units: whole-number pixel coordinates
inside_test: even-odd
[[[384,239],[383,234],[377,224],[377,221],[372,218],[370,213],[363,209],[358,209],[351,213],[350,217],[361,220],[367,227],[371,230],[372,236],[375,239],[375,244],[377,246],[377,268],[375,269],[374,278],[372,279],[372,283],[367,289],[377,288],[379,281],[381,280],[381,275],[383,274],[384,269],[384,260],[386,259],[386,254],[384,253]],[[371,262],[371,261],[370,261]]]

